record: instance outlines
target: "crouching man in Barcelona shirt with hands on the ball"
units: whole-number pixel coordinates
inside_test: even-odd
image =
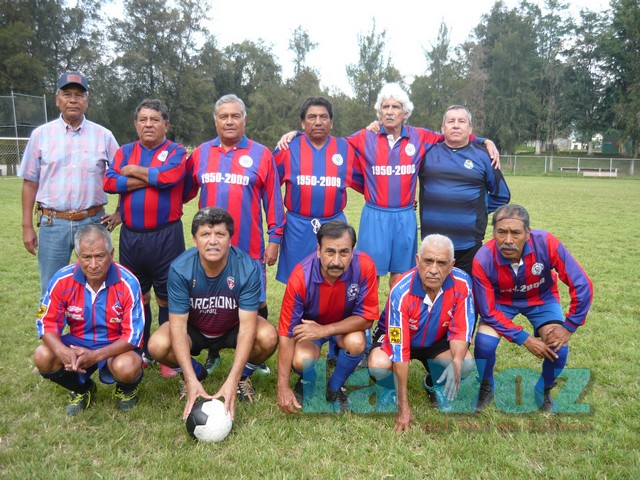
[[[153,333],[149,352],[159,362],[182,369],[187,394],[183,418],[198,397],[224,397],[225,410],[233,418],[236,395],[253,401],[251,374],[273,354],[278,336],[258,315],[260,267],[231,246],[231,215],[222,208],[203,208],[193,217],[191,234],[195,248],[171,264],[169,322]],[[201,383],[207,371],[191,356],[205,348],[216,356],[222,348],[235,349],[229,375],[213,396]]]

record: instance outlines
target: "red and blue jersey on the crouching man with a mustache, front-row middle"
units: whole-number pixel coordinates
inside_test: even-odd
[[[316,252],[293,269],[282,299],[278,334],[293,336],[302,319],[328,325],[359,315],[373,323],[378,318],[378,284],[373,260],[354,250],[349,267],[331,285],[320,271]]]

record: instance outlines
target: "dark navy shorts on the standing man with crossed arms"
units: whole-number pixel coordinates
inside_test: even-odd
[[[153,287],[156,297],[167,300],[169,266],[184,250],[180,220],[149,230],[120,228],[120,264],[136,276],[143,294]]]

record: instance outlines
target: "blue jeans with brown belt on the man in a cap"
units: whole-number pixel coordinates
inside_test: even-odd
[[[73,237],[80,227],[95,223],[100,225],[104,210],[93,217],[73,221],[42,216],[38,233],[38,270],[40,271],[40,295],[44,297],[51,277],[62,267],[69,265],[73,251]]]

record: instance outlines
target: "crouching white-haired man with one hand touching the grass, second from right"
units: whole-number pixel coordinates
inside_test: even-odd
[[[449,409],[448,401],[455,399],[460,379],[473,370],[469,353],[475,327],[471,280],[454,268],[454,262],[449,238],[438,234],[425,237],[416,255],[417,267],[391,289],[378,322],[369,371],[378,385],[385,387],[385,393],[393,392],[395,376],[395,431],[408,430],[411,425],[407,396],[410,360],[424,364],[427,376],[422,385],[431,403],[443,411]]]

